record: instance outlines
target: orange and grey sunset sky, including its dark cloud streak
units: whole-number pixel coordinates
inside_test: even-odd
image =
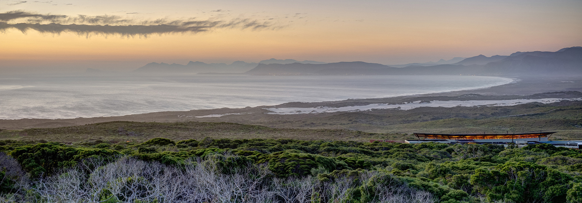
[[[581,10],[581,0],[0,0],[0,74],[556,51],[582,45]]]

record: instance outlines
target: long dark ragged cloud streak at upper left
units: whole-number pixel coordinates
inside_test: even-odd
[[[275,29],[267,21],[253,19],[230,20],[133,20],[120,16],[65,16],[54,14],[38,14],[16,10],[0,13],[0,31],[16,28],[22,32],[36,30],[42,33],[60,34],[74,32],[79,35],[104,34],[122,36],[144,36],[151,34],[198,33],[217,28],[235,29]]]

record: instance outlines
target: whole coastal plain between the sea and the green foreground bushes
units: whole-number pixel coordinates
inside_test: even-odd
[[[364,106],[415,101],[573,99],[582,97],[579,77],[517,77],[485,89],[376,99],[348,99],[276,106],[166,111],[121,117],[0,120],[0,139],[88,142],[144,141],[153,137],[202,139],[353,140],[412,139],[413,132],[557,132],[551,140],[582,139],[582,101],[514,106],[418,107],[320,114],[267,114],[265,108]],[[217,115],[217,117],[205,117]],[[218,116],[222,115],[222,116]],[[202,118],[197,118],[202,117]],[[122,122],[123,121],[123,122]]]

